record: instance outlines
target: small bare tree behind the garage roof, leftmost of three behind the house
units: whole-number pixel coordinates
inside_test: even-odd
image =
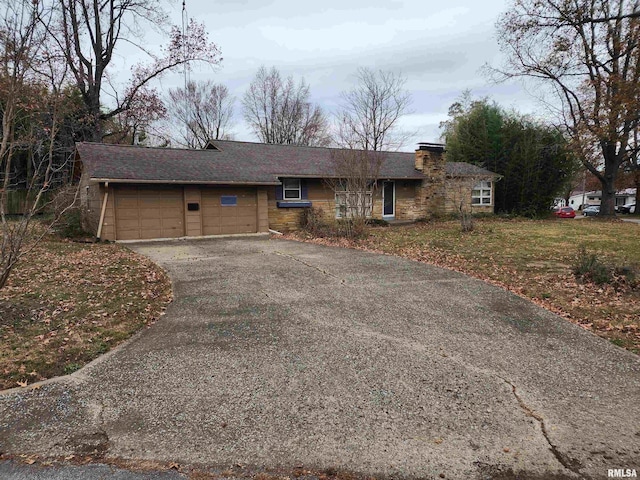
[[[228,138],[234,103],[225,85],[210,80],[169,90],[169,115],[176,127],[173,138],[188,148],[204,148],[209,140]]]

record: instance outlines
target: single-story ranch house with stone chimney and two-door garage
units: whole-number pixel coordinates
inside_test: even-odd
[[[357,196],[340,188],[340,152],[348,151],[229,140],[202,150],[79,143],[83,221],[113,241],[289,231],[309,207],[340,218]],[[369,215],[416,220],[460,202],[493,212],[498,176],[443,154],[426,143],[415,154],[382,152],[377,188],[364,193]]]

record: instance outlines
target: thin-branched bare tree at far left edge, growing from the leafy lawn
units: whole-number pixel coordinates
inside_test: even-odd
[[[24,244],[31,235],[31,220],[44,203],[45,195],[55,184],[57,170],[63,166],[54,163],[56,133],[60,128],[65,107],[61,89],[64,71],[43,51],[46,32],[39,18],[42,11],[38,2],[30,0],[2,0],[0,26],[0,85],[2,89],[2,141],[0,142],[0,289],[9,279],[13,267],[24,254]],[[51,91],[43,96],[40,82],[49,80]],[[48,103],[48,105],[43,105]],[[42,111],[48,111],[48,135],[40,137],[41,144],[32,135],[33,127],[23,128],[20,123],[33,124]],[[16,220],[8,217],[7,201],[15,187],[12,168],[18,149],[30,150],[34,159],[34,172],[28,183],[27,205]],[[31,241],[31,245],[37,243]]]

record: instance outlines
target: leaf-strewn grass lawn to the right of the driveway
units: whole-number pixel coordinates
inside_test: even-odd
[[[371,228],[356,241],[312,239],[399,255],[458,270],[507,288],[568,320],[640,353],[640,225],[578,220],[476,222],[461,233],[457,221]],[[612,283],[578,278],[580,247],[608,267]],[[634,278],[635,274],[635,278]]]

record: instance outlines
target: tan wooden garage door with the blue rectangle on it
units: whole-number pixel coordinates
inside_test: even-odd
[[[202,234],[258,231],[258,195],[255,188],[203,187]]]

